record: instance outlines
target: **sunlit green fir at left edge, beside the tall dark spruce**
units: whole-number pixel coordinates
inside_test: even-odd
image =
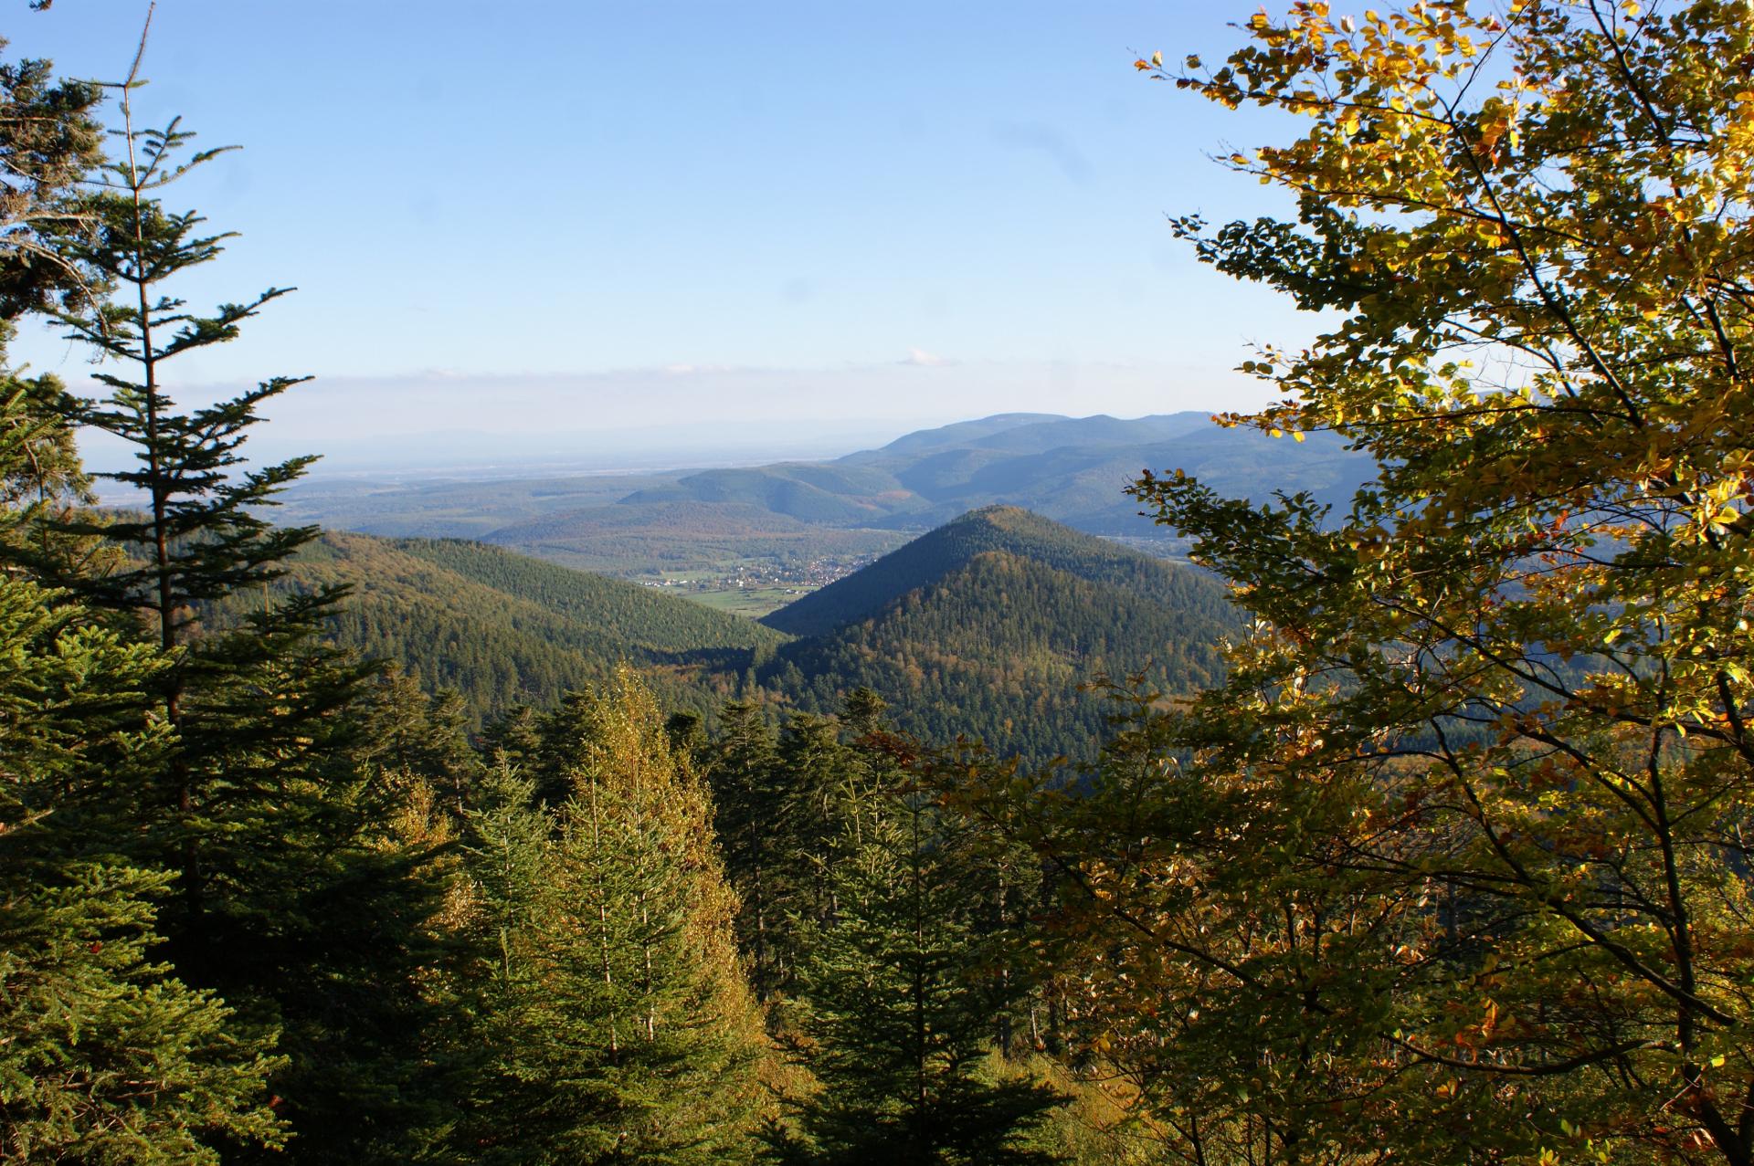
[[[53,421],[0,402],[0,475],[28,475]],[[32,521],[0,507],[0,538]],[[128,786],[175,736],[142,693],[146,645],[0,573],[0,1157],[216,1162],[214,1141],[279,1145],[272,1034],[151,957],[170,877],[116,852]]]

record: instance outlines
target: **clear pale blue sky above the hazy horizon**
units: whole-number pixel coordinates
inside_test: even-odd
[[[270,440],[337,466],[1258,405],[1233,366],[1314,326],[1165,219],[1282,214],[1210,154],[1294,126],[1131,68],[1221,58],[1252,9],[160,0],[139,121],[242,146],[165,191],[239,231],[174,291],[298,288],[170,380],[314,375]],[[4,32],[118,79],[146,14],[19,4]],[[91,372],[42,330],[11,359]]]

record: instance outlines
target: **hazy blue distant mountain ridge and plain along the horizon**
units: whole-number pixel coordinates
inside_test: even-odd
[[[291,491],[282,514],[381,535],[454,535],[609,573],[652,577],[737,558],[809,561],[888,551],[989,505],[1094,535],[1166,540],[1126,487],[1186,470],[1230,496],[1308,491],[1345,507],[1375,465],[1326,433],[1226,430],[1205,412],[996,414],[831,461],[479,484]]]

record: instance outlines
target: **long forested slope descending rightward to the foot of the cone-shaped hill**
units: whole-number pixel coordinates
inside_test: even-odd
[[[728,694],[724,677],[782,638],[638,584],[475,544],[328,533],[291,566],[281,586],[353,587],[330,621],[339,645],[395,661],[426,689],[460,691],[477,724],[517,703],[551,705],[623,659],[667,705],[707,710]]]

